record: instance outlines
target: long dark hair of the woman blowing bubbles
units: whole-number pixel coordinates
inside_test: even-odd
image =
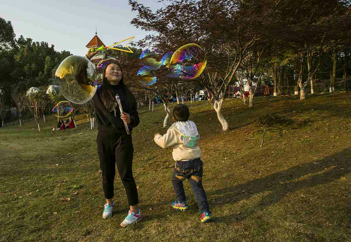
[[[124,83],[123,81],[123,71],[121,66],[118,63],[111,63],[111,64],[117,64],[119,66],[119,68],[121,69],[122,72],[122,78],[119,81],[118,85],[120,85],[122,91],[125,94],[132,94],[132,91],[128,88],[128,86]],[[110,64],[106,65],[106,67],[103,70],[103,81],[102,81],[102,94],[101,94],[101,100],[102,103],[104,104],[105,108],[108,109],[109,111],[112,111],[115,108],[115,105],[117,104],[116,98],[112,93],[112,87],[113,85],[110,84],[110,82],[107,80],[106,78],[106,68],[109,66]]]

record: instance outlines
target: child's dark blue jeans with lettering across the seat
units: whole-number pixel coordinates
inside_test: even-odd
[[[202,187],[202,174],[203,163],[201,159],[177,161],[172,174],[172,184],[178,201],[186,201],[183,181],[188,179],[198,203],[200,213],[203,213],[210,208],[208,206],[205,190]]]

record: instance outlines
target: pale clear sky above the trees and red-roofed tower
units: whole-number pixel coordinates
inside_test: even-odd
[[[158,0],[139,0],[153,10],[163,7]],[[165,1],[166,2],[166,1]],[[130,24],[137,12],[131,11],[127,0],[115,1],[52,1],[3,0],[0,17],[11,21],[16,39],[21,35],[33,41],[53,44],[55,50],[71,51],[84,56],[86,44],[95,35],[107,46],[128,37],[143,39],[147,32]]]

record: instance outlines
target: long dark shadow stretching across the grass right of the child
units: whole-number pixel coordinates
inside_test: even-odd
[[[231,214],[218,217],[217,219],[217,221],[229,222],[230,218],[233,220],[233,217],[235,217],[236,221],[242,221],[246,217],[257,214],[266,207],[278,203],[289,193],[304,188],[324,185],[351,173],[351,169],[349,168],[350,159],[351,148],[346,148],[323,159],[297,165],[264,178],[207,192],[207,197],[211,198],[213,195],[222,195],[216,199],[216,205],[218,206],[227,203],[237,203],[245,199],[250,199],[259,193],[270,192],[264,195],[253,207],[247,207],[239,214]]]

